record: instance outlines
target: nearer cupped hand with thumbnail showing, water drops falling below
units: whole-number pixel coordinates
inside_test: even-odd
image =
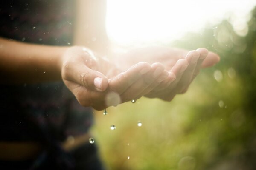
[[[167,77],[167,71],[159,65],[139,62],[120,70],[105,59],[97,59],[86,48],[71,47],[61,59],[61,76],[81,105],[102,110],[134,99],[151,82]],[[141,81],[144,74],[147,81]]]

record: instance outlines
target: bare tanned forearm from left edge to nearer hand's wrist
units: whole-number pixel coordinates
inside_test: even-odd
[[[0,38],[0,83],[61,80],[61,56],[67,47],[44,46]]]

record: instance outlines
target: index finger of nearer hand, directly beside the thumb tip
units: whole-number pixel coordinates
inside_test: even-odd
[[[111,91],[116,91],[118,94],[122,94],[126,91],[137,79],[148,71],[151,67],[147,62],[139,62],[136,65],[129,68],[127,71],[118,74],[109,81],[109,88]]]

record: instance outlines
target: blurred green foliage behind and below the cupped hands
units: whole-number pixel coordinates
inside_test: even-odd
[[[170,44],[221,57],[186,94],[95,112],[92,133],[108,170],[256,169],[256,9],[247,25],[239,36],[224,20]]]

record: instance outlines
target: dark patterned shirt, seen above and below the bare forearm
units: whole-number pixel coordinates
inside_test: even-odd
[[[72,45],[74,7],[73,0],[0,0],[0,37]],[[0,140],[58,142],[91,125],[91,108],[63,82],[0,85]]]

